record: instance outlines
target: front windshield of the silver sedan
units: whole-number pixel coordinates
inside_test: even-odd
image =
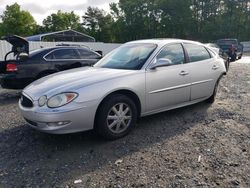
[[[95,67],[139,70],[157,46],[155,44],[127,44],[101,59]]]

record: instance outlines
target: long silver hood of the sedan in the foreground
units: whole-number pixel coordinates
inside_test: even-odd
[[[61,92],[75,91],[91,84],[126,76],[135,72],[134,70],[97,67],[71,69],[41,78],[28,85],[23,92],[33,100],[38,100],[42,95],[51,96]]]

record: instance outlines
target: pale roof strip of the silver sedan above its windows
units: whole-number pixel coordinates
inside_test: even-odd
[[[150,43],[150,44],[157,44],[158,46],[162,46],[168,43],[193,43],[193,44],[197,44],[197,45],[203,45],[200,42],[196,42],[196,41],[191,41],[191,40],[183,40],[183,39],[173,39],[173,38],[157,38],[157,39],[145,39],[145,40],[137,40],[137,41],[132,41],[132,42],[128,42],[126,44],[138,44],[138,43]]]

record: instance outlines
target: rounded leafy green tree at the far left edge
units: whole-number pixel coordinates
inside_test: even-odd
[[[2,36],[12,34],[28,36],[36,30],[34,18],[29,12],[21,10],[17,3],[7,5],[1,19],[0,34]]]

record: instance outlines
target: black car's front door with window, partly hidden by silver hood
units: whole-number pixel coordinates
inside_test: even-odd
[[[77,51],[81,58],[82,65],[86,65],[86,64],[93,65],[102,58],[101,55],[89,49],[79,48],[77,49]]]

